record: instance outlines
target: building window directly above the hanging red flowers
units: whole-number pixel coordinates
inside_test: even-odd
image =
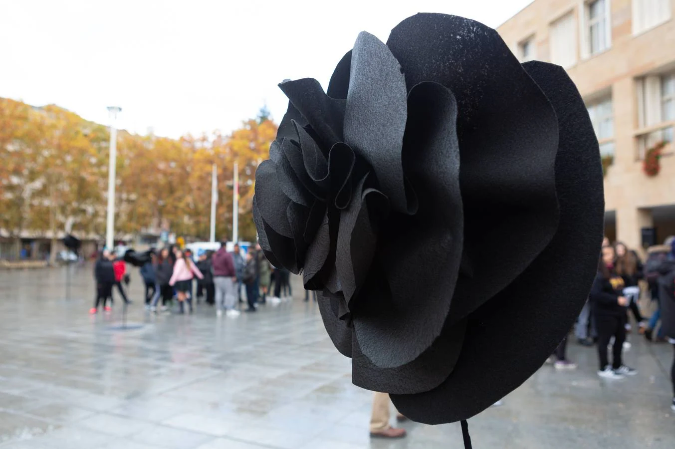
[[[649,75],[637,81],[638,121],[646,128],[638,137],[638,158],[661,141],[673,141],[675,72]]]

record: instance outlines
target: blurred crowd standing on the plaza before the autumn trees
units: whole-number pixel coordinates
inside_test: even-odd
[[[259,244],[244,253],[238,244],[228,252],[227,242],[221,242],[218,250],[198,250],[196,257],[190,249],[167,246],[158,252],[149,251],[138,265],[145,286],[144,304],[153,313],[171,313],[173,302],[178,304],[178,313],[192,313],[193,302],[204,302],[215,307],[218,317],[237,317],[244,306],[246,312],[255,312],[260,304],[292,297],[289,271],[273,267]],[[111,311],[113,288],[127,305],[131,304],[124,257],[103,250],[94,265],[94,278],[97,294],[89,311],[92,315],[99,308]]]

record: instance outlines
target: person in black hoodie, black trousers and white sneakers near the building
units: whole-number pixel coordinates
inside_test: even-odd
[[[624,280],[614,270],[614,248],[602,248],[598,271],[591,288],[591,304],[597,327],[597,352],[600,369],[597,374],[607,379],[622,379],[637,371],[622,363],[623,344],[626,341],[626,307],[628,299],[622,296]],[[607,346],[614,337],[612,365],[607,359]]]

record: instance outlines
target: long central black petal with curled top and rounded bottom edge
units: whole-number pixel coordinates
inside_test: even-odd
[[[412,216],[392,215],[383,229],[388,304],[354,316],[359,346],[379,367],[410,363],[429,348],[450,309],[464,228],[456,117],[454,96],[440,84],[410,91],[404,161],[419,207]]]

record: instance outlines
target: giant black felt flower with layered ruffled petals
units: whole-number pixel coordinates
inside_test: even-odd
[[[602,234],[597,140],[564,70],[418,14],[386,45],[361,33],[326,93],[280,86],[254,219],[270,261],[322,292],[354,384],[425,423],[520,385],[583,306]]]

